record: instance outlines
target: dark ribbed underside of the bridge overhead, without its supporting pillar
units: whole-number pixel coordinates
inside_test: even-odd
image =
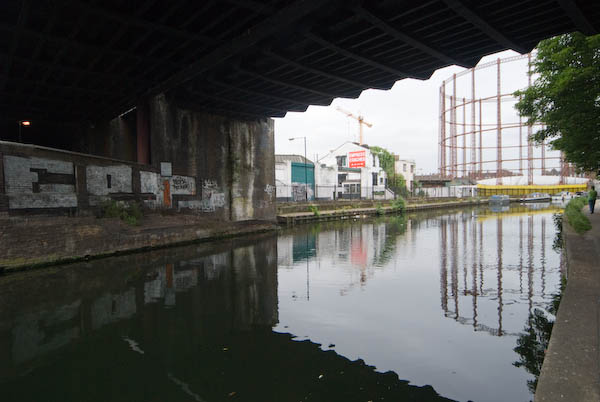
[[[0,8],[3,119],[111,118],[162,92],[195,110],[283,116],[600,30],[598,2],[574,0],[5,0]]]

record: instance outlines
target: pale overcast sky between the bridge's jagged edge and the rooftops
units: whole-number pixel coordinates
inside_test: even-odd
[[[516,54],[513,51],[505,51],[486,56],[480,63]],[[315,155],[324,156],[345,141],[358,141],[357,121],[336,110],[339,106],[355,115],[363,115],[366,122],[373,124],[372,128],[364,128],[365,143],[387,148],[405,159],[414,159],[417,163],[417,172],[420,174],[437,172],[440,85],[452,74],[464,70],[457,66],[446,67],[437,70],[427,81],[404,79],[396,82],[389,91],[369,89],[357,99],[338,98],[327,107],[310,106],[304,113],[290,112],[284,118],[274,119],[275,153],[304,153],[302,140],[289,141],[290,137],[307,137],[307,156],[310,160],[314,160]],[[513,92],[525,86],[526,70],[526,60],[509,63],[506,68],[503,67],[502,92]],[[484,96],[495,94],[495,68],[480,71],[482,71],[481,75],[476,77],[478,86],[476,97],[480,97],[481,94]],[[468,93],[470,75],[465,76],[464,79],[468,86],[465,86],[464,91]],[[458,86],[461,86],[460,80]],[[463,96],[460,89],[458,96]],[[505,109],[507,110],[503,110],[503,116],[507,112],[517,116],[516,112],[508,110],[512,109],[512,103]],[[490,109],[489,113],[493,114],[495,110]],[[515,120],[514,117],[506,119]],[[516,119],[518,121],[518,117]]]

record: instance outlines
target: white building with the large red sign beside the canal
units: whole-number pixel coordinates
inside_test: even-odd
[[[379,157],[368,145],[345,142],[320,158],[318,165],[328,169],[324,175],[329,178],[334,172],[331,168],[335,168],[337,180],[327,192],[335,193],[336,198],[394,198],[394,194],[386,190],[387,175],[379,164]],[[319,176],[317,174],[317,178]],[[317,187],[321,187],[318,182]]]

